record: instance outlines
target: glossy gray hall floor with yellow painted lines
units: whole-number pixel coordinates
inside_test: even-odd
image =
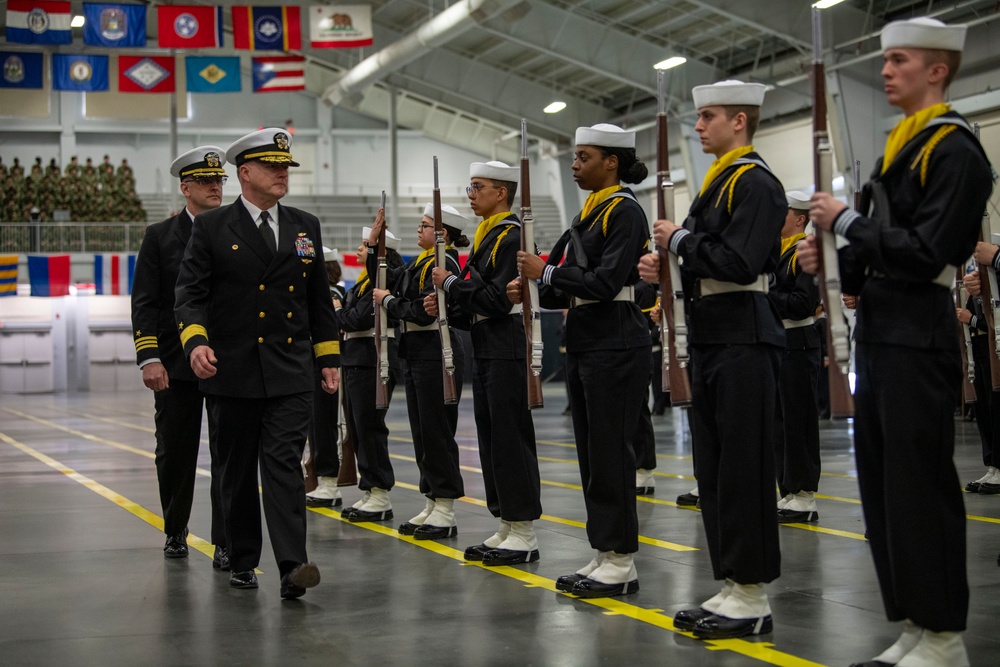
[[[714,594],[701,517],[689,490],[682,411],[654,418],[656,494],[639,500],[641,590],[583,601],[556,577],[590,559],[566,399],[545,387],[533,413],[545,515],[542,558],[487,569],[462,560],[492,534],[483,502],[471,396],[459,435],[466,490],[459,536],[401,538],[423,499],[402,390],[389,412],[399,481],[391,524],[309,514],[309,553],[323,581],[282,602],[265,538],[257,591],[228,587],[211,566],[209,466],[203,447],[191,556],[166,560],[157,527],[148,392],[0,398],[0,664],[9,665],[846,665],[892,643],[863,539],[849,422],[824,422],[820,521],[781,529],[782,576],[769,587],[772,635],[700,642],[672,629],[678,609]],[[975,424],[957,422],[963,482],[983,472]],[[343,489],[345,502],[360,492]],[[965,496],[973,665],[1000,665],[1000,496]]]

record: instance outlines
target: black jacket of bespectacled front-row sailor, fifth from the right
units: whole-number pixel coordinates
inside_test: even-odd
[[[454,248],[445,250],[445,265],[454,274],[461,272],[458,264],[458,251]],[[378,258],[374,253],[368,253],[368,272],[378,268]],[[386,274],[386,282],[391,285],[392,294],[385,298],[383,302],[389,317],[397,322],[412,322],[418,326],[428,326],[437,321],[437,318],[428,315],[424,310],[424,297],[434,292],[434,281],[431,280],[431,271],[434,270],[434,253],[420,258],[415,256],[406,266],[389,269]],[[456,308],[449,304],[448,318],[458,316]],[[452,345],[457,342],[457,337],[452,337]],[[441,336],[437,330],[421,330],[403,332],[400,326],[399,335],[399,358],[400,359],[440,359],[441,358]]]

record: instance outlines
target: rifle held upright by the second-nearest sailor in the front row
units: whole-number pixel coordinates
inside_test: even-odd
[[[656,114],[656,216],[674,221],[674,183],[670,179],[670,155],[667,143],[667,109],[664,72],[656,73],[658,111]],[[684,292],[681,289],[680,265],[666,248],[660,256],[660,348],[663,357],[663,391],[670,392],[670,404],[691,405],[691,381],[687,374],[687,319]]]

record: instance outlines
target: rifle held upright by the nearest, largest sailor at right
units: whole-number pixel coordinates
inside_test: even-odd
[[[826,71],[823,67],[822,24],[820,12],[813,8],[813,177],[816,192],[833,193],[833,150],[826,129]],[[816,230],[819,252],[819,287],[823,310],[827,314],[827,356],[830,360],[830,416],[843,419],[854,416],[854,397],[851,396],[848,370],[851,362],[851,343],[844,317],[840,291],[840,267],[837,258],[837,240],[833,232]]]

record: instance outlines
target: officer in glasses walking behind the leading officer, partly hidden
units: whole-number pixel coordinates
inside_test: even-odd
[[[163,508],[163,532],[167,535],[163,555],[167,558],[188,555],[187,525],[194,499],[204,403],[204,394],[181,349],[174,323],[174,285],[195,216],[222,204],[225,164],[226,152],[218,146],[199,146],[173,161],[170,175],[180,179],[184,209],[146,228],[135,263],[132,333],[142,382],[154,392],[156,476]],[[212,453],[212,543],[215,544],[212,564],[228,570],[219,487],[222,475],[211,416],[208,434]]]

